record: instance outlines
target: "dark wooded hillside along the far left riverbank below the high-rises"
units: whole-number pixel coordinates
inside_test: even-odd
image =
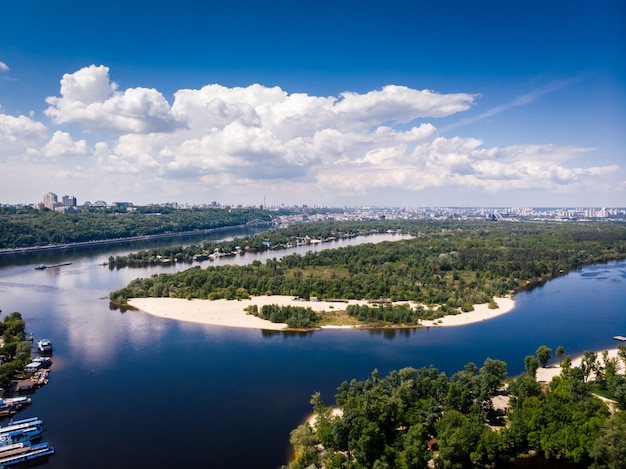
[[[130,238],[269,221],[258,209],[172,209],[168,207],[81,208],[59,213],[30,207],[0,207],[0,249]]]

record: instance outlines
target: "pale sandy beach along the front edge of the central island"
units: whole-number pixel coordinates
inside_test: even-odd
[[[461,326],[474,322],[485,321],[501,314],[508,313],[515,305],[511,298],[496,298],[500,306],[489,309],[487,304],[474,306],[474,311],[445,316],[436,321],[422,321],[426,327]],[[180,298],[131,298],[128,304],[153,316],[215,326],[244,327],[253,329],[282,330],[286,324],[275,324],[270,321],[246,314],[250,305],[261,309],[264,305],[310,307],[313,311],[343,310],[350,304],[368,304],[365,300],[349,300],[347,302],[305,301],[291,296],[254,296],[248,300],[185,300]],[[339,328],[345,326],[325,326]],[[351,328],[352,326],[347,326]]]

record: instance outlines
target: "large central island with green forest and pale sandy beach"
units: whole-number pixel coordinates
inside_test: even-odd
[[[300,235],[314,229],[349,232],[341,223],[312,225]],[[385,226],[399,225],[377,221],[372,229]],[[296,228],[291,236],[297,237]],[[407,221],[401,229],[412,237],[139,278],[111,292],[110,304],[278,330],[465,324],[510,311],[517,291],[583,265],[626,257],[622,224]],[[264,236],[281,235],[248,241],[258,245]]]

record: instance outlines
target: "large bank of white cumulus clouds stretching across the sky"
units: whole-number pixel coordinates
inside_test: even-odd
[[[608,187],[611,175],[623,171],[580,163],[596,149],[494,147],[439,134],[438,118],[476,100],[398,85],[315,96],[209,84],[178,90],[170,105],[155,89],[121,90],[108,67],[91,65],[65,74],[59,96],[47,98],[51,130],[33,118],[0,114],[0,155],[10,150],[56,161],[68,174],[78,161],[83,174],[102,175],[103,185],[123,181],[136,194],[158,187],[189,199],[219,193],[226,200],[267,190],[285,203],[296,197],[332,203],[372,190],[566,192]],[[99,130],[113,136],[105,132],[98,141]],[[82,158],[65,158],[71,156]]]

